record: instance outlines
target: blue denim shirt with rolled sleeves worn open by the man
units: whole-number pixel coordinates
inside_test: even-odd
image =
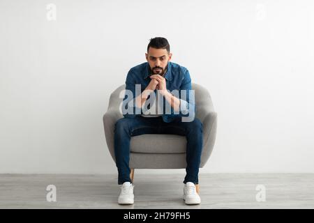
[[[177,90],[178,94],[172,93],[176,98],[180,99],[180,109],[179,111],[174,112],[174,109],[170,106],[170,103],[163,98],[163,121],[166,123],[170,123],[175,118],[183,117],[183,116],[195,116],[195,97],[194,91],[191,91],[191,79],[190,73],[188,69],[184,68],[183,66],[179,66],[177,63],[168,62],[167,63],[167,72],[165,73],[164,77],[166,80],[166,88],[167,91]],[[122,103],[122,111],[124,117],[126,118],[135,118],[137,115],[143,114],[142,109],[135,106],[135,98],[137,95],[140,95],[147,86],[149,82],[151,82],[151,78],[149,77],[150,69],[149,63],[142,63],[138,66],[131,68],[128,71],[128,75],[126,77],[126,90],[128,92],[132,92],[131,95],[127,93],[124,95],[124,100]],[[140,84],[140,91],[136,91],[135,84]],[[139,86],[137,86],[138,89]],[[186,93],[181,95],[181,90],[186,90]],[[175,92],[175,91],[174,91]],[[154,91],[156,93],[156,90]],[[149,98],[147,98],[148,100]],[[159,101],[159,100],[158,100]],[[131,103],[130,103],[131,102]],[[160,103],[162,103],[160,102]],[[165,107],[170,108],[170,111],[166,112]],[[130,109],[130,107],[133,107]],[[126,112],[126,110],[131,112]],[[191,114],[193,113],[193,114]]]

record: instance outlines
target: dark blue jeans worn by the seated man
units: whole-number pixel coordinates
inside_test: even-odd
[[[182,122],[181,117],[171,123],[165,123],[161,116],[145,118],[120,118],[114,129],[114,155],[118,169],[118,184],[131,182],[130,179],[130,139],[140,134],[179,134],[186,136],[186,177],[184,183],[198,184],[198,171],[202,153],[202,123],[194,118],[191,122]]]

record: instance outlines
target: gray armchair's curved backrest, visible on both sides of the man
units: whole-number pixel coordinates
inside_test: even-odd
[[[114,90],[110,95],[109,107],[108,109],[119,110],[121,102],[124,99],[124,89],[126,84],[122,84],[116,90]],[[200,113],[197,112],[197,108],[208,107],[208,109],[214,110],[213,102],[211,101],[211,95],[209,91],[205,89],[200,84],[192,83],[192,89],[195,91],[195,105],[196,105],[196,114],[197,118],[200,118]],[[121,112],[120,112],[121,113]],[[121,117],[122,114],[121,114]]]

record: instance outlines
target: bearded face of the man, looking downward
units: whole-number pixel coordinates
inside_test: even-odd
[[[149,52],[145,54],[152,75],[165,75],[168,61],[172,54],[167,52],[167,49],[155,49],[149,47]]]

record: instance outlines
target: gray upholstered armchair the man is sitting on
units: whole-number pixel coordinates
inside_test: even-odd
[[[124,89],[125,84],[112,92],[107,112],[103,116],[105,138],[113,160],[115,160],[114,125],[119,118],[124,117],[120,112],[123,98],[119,98],[119,94]],[[194,83],[192,89],[195,90],[195,116],[203,123],[203,148],[200,167],[204,167],[211,155],[216,139],[217,113],[214,111],[211,96],[207,89]],[[142,134],[131,137],[129,165],[132,169],[132,179],[134,169],[185,169],[186,137],[175,134]]]

